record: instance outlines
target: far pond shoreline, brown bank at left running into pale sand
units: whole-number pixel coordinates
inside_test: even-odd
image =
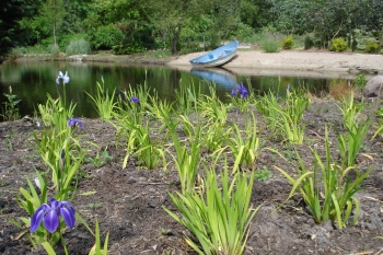
[[[137,55],[79,55],[57,59],[58,61],[111,62],[119,65],[166,66],[181,71],[190,71],[189,59],[204,53],[155,58]],[[51,61],[51,58],[24,57],[23,61]],[[56,61],[56,60],[55,60]],[[294,76],[307,78],[353,78],[364,73],[368,78],[383,71],[383,55],[359,53],[334,53],[325,50],[282,50],[267,54],[262,50],[237,50],[237,55],[221,68],[243,76]]]

